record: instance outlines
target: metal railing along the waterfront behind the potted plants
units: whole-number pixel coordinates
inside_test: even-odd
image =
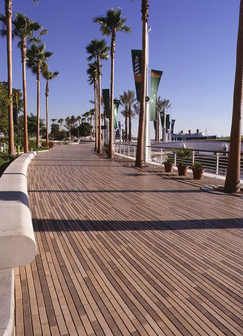
[[[115,143],[114,151],[118,155],[135,159],[136,144]],[[194,161],[198,161],[205,166],[206,174],[210,174],[212,177],[225,178],[228,166],[228,155],[229,152],[224,151],[192,150],[192,157],[186,159],[185,164],[191,167]],[[178,158],[171,148],[148,146],[147,162],[161,166],[168,157],[174,159],[174,169],[177,170],[176,164],[178,163]],[[243,153],[241,153],[240,156],[240,179],[243,180]]]

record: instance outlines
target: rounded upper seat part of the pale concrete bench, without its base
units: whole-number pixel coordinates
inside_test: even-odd
[[[0,269],[29,264],[36,254],[26,179],[34,155],[21,155],[0,179]]]

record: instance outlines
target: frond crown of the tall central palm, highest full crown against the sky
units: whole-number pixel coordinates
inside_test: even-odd
[[[122,17],[122,9],[111,8],[106,12],[106,16],[97,16],[94,18],[94,23],[100,24],[100,31],[104,35],[111,35],[115,31],[124,31],[126,33],[131,33],[131,28],[125,26],[127,22],[127,17]]]

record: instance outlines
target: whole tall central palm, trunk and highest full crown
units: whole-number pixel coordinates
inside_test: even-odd
[[[94,22],[100,24],[100,31],[104,35],[111,36],[111,95],[110,95],[110,118],[109,118],[109,148],[108,148],[108,158],[112,159],[113,152],[113,98],[114,98],[114,60],[115,60],[115,42],[116,42],[116,32],[124,31],[126,33],[131,31],[131,28],[126,26],[126,17],[122,17],[122,10],[118,9],[108,9],[106,16],[97,16],[94,18]]]

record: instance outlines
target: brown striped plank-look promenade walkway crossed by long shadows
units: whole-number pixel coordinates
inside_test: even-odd
[[[242,335],[243,199],[91,148],[29,166],[38,252],[15,269],[15,334]]]

